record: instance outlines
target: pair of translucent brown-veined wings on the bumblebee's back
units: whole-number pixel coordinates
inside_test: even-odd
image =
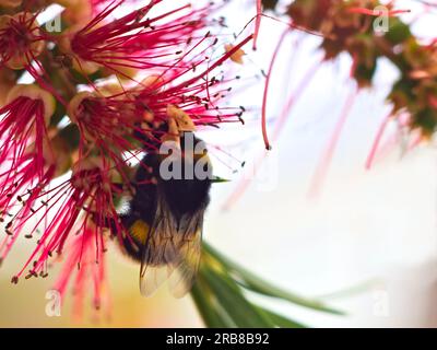
[[[154,223],[144,245],[140,290],[152,295],[169,280],[173,294],[184,296],[194,282],[201,253],[203,211],[179,222],[158,199]]]

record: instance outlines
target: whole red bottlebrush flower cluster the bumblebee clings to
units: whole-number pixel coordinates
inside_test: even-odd
[[[70,2],[57,1],[71,11]],[[20,66],[40,86],[19,85],[0,109],[0,211],[2,220],[9,220],[0,258],[26,230],[26,237],[37,236],[37,246],[12,281],[45,277],[50,257],[66,252],[56,288],[63,293],[81,267],[74,282],[78,301],[92,276],[95,306],[102,304],[105,241],[114,235],[120,243],[127,240],[128,228],[116,208],[132,195],[138,167],[129,159],[156,150],[175,132],[175,122],[178,132],[241,121],[244,108],[223,104],[233,79],[217,68],[228,59],[240,61],[241,47],[252,38],[227,45],[222,56],[211,59],[218,43],[205,30],[211,4],[153,14],[163,2],[154,0],[113,21],[122,2],[92,1],[94,18],[85,25],[67,21],[59,35],[44,33],[35,14],[27,12],[15,15],[21,22],[14,16],[0,26],[1,65],[8,70]],[[19,24],[20,30],[11,30]],[[11,31],[8,37],[5,31]],[[8,40],[20,45],[25,60],[8,51]],[[90,74],[96,69],[97,74]],[[130,81],[114,90],[108,71]],[[15,70],[15,78],[20,74]],[[62,129],[63,117],[71,124]],[[145,165],[140,161],[138,166]],[[70,178],[56,185],[52,179],[67,168]]]

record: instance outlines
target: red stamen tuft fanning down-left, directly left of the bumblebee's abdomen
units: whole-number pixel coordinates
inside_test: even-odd
[[[88,158],[75,163],[69,180],[40,191],[39,207],[28,214],[20,213],[16,224],[11,229],[16,230],[12,232],[12,240],[16,237],[24,223],[38,214],[42,218],[37,220],[34,229],[29,230],[31,235],[43,224],[45,218],[50,217],[50,222],[44,223],[45,228],[42,230],[37,247],[12,281],[17,282],[29,266],[27,278],[38,273],[45,276],[47,260],[55,253],[62,254],[68,238],[73,233],[82,235],[84,242],[88,240],[86,235],[94,237],[95,260],[98,260],[101,252],[105,250],[104,237],[108,222],[116,225],[120,235],[123,234],[114,203],[114,196],[121,190],[116,183],[118,183],[117,176],[105,159]],[[75,264],[80,262],[79,256]]]

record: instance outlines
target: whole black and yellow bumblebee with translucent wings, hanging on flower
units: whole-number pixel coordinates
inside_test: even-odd
[[[121,247],[141,264],[140,290],[145,296],[167,279],[175,296],[185,295],[200,262],[212,166],[204,142],[192,131],[180,132],[174,141],[180,152],[167,170],[180,170],[182,176],[165,176],[163,165],[169,155],[150,151],[135,172],[129,208],[119,215],[126,228]],[[203,152],[193,152],[197,149]],[[190,170],[200,167],[204,176],[187,176]]]

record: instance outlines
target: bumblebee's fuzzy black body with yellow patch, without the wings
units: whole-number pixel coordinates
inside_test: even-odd
[[[194,156],[186,156],[186,154],[187,152],[193,152],[193,148],[203,141],[190,133],[189,137],[193,140],[193,144],[187,148],[185,137],[186,133],[180,138],[182,156],[180,158],[180,164],[178,164],[184,170],[181,178],[163,178],[160,171],[163,156],[157,152],[150,152],[144,155],[138,167],[133,182],[133,197],[130,200],[129,210],[127,213],[120,215],[121,222],[129,233],[129,236],[123,240],[123,250],[135,260],[142,261],[144,259],[144,249],[151,249],[147,242],[150,242],[150,236],[155,234],[153,232],[154,224],[157,220],[161,220],[156,218],[158,215],[157,211],[162,215],[163,208],[165,208],[165,215],[170,219],[169,222],[174,223],[174,228],[168,228],[170,232],[165,232],[165,235],[187,235],[188,237],[198,234],[198,231],[201,232],[203,214],[210,201],[209,192],[212,184],[212,167],[205,151],[202,155],[206,156],[206,162],[204,162],[206,168],[204,171],[208,173],[208,176],[200,179],[194,174],[194,176],[186,178],[186,166],[194,167],[197,162],[202,158],[199,154]],[[150,228],[147,229],[150,232],[145,232],[143,235],[138,234],[138,228],[145,226],[142,224],[139,225],[139,222],[145,223]],[[142,236],[144,238],[141,240],[140,237]],[[153,237],[153,240],[155,245],[163,241],[160,237]],[[178,240],[180,237],[175,237],[175,241]],[[154,249],[160,249],[160,246]],[[177,249],[178,247],[176,247]],[[147,264],[160,264],[158,260],[161,258],[154,260],[158,256],[158,253],[154,256],[154,252],[147,252],[147,256],[150,259],[146,261]],[[174,258],[178,258],[177,254]],[[169,262],[162,261],[163,265]]]

